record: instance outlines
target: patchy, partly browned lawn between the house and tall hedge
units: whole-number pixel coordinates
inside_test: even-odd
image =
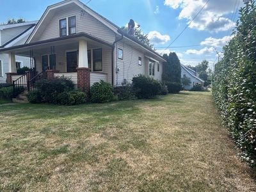
[[[0,190],[254,191],[238,152],[211,93],[0,106]]]

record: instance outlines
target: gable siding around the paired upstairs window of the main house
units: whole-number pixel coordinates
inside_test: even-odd
[[[77,33],[85,32],[110,43],[115,41],[115,33],[111,29],[87,12],[81,14],[81,8],[73,6],[73,8],[65,8],[65,10],[56,12],[49,23],[44,23],[40,26],[40,28],[45,28],[44,32],[35,34],[31,42],[60,37],[59,20],[74,15],[76,15],[77,19]]]

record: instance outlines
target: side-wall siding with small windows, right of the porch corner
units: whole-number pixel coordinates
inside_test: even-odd
[[[118,48],[123,49],[123,60],[118,59]],[[139,65],[139,57],[142,58],[141,65]],[[116,85],[124,83],[124,79],[131,83],[132,77],[138,76],[138,74],[145,74],[145,56],[143,52],[136,51],[129,45],[118,42],[116,47],[116,67],[119,68],[119,72],[116,74]]]

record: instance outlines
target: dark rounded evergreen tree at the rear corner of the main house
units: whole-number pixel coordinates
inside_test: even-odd
[[[164,54],[163,57],[167,61],[163,65],[163,81],[181,84],[181,67],[177,54],[170,52],[169,56]]]

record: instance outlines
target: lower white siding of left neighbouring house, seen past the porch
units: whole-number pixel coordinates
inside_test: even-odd
[[[9,56],[8,54],[0,53],[0,60],[2,61],[3,65],[3,77],[0,77],[0,83],[6,82],[6,73],[9,72]],[[30,58],[22,57],[22,56],[15,56],[16,61],[21,61],[20,67],[29,67],[30,68]]]

